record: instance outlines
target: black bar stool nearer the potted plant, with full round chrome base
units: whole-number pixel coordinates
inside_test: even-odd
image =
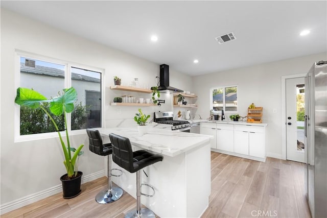
[[[120,187],[111,187],[111,176],[121,176],[120,175],[113,175],[111,174],[112,170],[117,170],[122,173],[120,169],[111,169],[111,154],[112,154],[112,147],[111,143],[103,144],[102,138],[100,135],[99,130],[86,130],[88,135],[89,145],[88,148],[91,152],[101,155],[101,156],[108,156],[108,188],[102,190],[96,196],[96,201],[99,204],[108,204],[120,199],[123,195],[123,189]]]

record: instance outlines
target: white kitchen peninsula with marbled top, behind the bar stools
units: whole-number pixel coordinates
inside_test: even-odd
[[[133,151],[144,149],[164,156],[162,162],[144,169],[142,183],[155,189],[152,198],[142,197],[142,204],[160,217],[199,217],[208,207],[211,192],[210,136],[157,129],[139,136],[136,127],[99,129],[104,142],[109,133],[130,139]],[[122,169],[115,163],[112,168]],[[112,181],[136,198],[136,174],[122,169]],[[148,193],[144,188],[142,192]],[[149,190],[151,194],[151,190]]]

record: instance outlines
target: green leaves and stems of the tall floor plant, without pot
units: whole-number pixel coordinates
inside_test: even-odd
[[[55,130],[57,131],[61,143],[61,147],[63,150],[63,154],[65,156],[65,160],[63,161],[68,178],[74,178],[77,175],[77,158],[83,154],[81,149],[84,144],[81,144],[77,149],[72,148],[69,143],[68,130],[67,130],[67,113],[71,113],[74,110],[74,102],[77,100],[77,92],[71,87],[68,89],[63,89],[63,93],[56,98],[46,99],[45,96],[40,94],[39,92],[28,89],[28,88],[17,88],[17,96],[15,99],[15,103],[18,105],[24,105],[32,109],[41,109],[43,110],[51,119]],[[64,115],[64,127],[66,134],[66,143],[62,139],[60,130],[58,128],[57,123],[53,116],[45,109],[45,105],[50,104],[50,111],[52,114],[59,116]],[[73,152],[73,155],[72,155]]]

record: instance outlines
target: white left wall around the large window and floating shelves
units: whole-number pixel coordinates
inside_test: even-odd
[[[123,118],[132,120],[138,107],[110,106],[114,96],[125,92],[109,89],[113,76],[122,78],[122,83],[139,78],[140,83],[156,85],[159,65],[144,59],[91,42],[84,38],[62,32],[1,9],[1,206],[15,200],[30,200],[36,192],[60,185],[59,177],[65,173],[63,155],[58,138],[14,142],[14,99],[15,50],[21,50],[45,57],[84,64],[105,70],[105,121],[110,127]],[[169,63],[167,63],[169,64]],[[192,78],[171,69],[171,85],[191,90]],[[55,93],[56,94],[56,93]],[[131,93],[128,93],[131,94]],[[151,94],[139,94],[151,98]],[[144,107],[147,114],[158,110],[172,110],[169,94],[162,95],[167,103],[159,107]],[[120,110],[119,110],[120,109]],[[135,122],[131,124],[135,125]],[[85,143],[84,155],[80,158],[79,169],[84,176],[104,170],[103,157],[88,151],[86,134],[73,135],[75,146]],[[31,195],[31,196],[30,196]],[[32,199],[33,200],[33,199]],[[35,199],[34,199],[35,201]],[[22,201],[19,201],[21,203]],[[24,202],[24,201],[23,201]],[[28,203],[27,201],[24,203]],[[17,202],[18,204],[18,202]],[[8,209],[8,208],[7,208]],[[10,208],[9,208],[10,209]],[[7,212],[6,210],[2,211]]]

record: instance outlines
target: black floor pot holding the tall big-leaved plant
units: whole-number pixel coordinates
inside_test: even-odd
[[[74,179],[66,180],[67,174],[60,177],[62,184],[62,197],[64,199],[70,199],[78,196],[81,193],[81,180],[83,173],[78,171],[77,176]]]

